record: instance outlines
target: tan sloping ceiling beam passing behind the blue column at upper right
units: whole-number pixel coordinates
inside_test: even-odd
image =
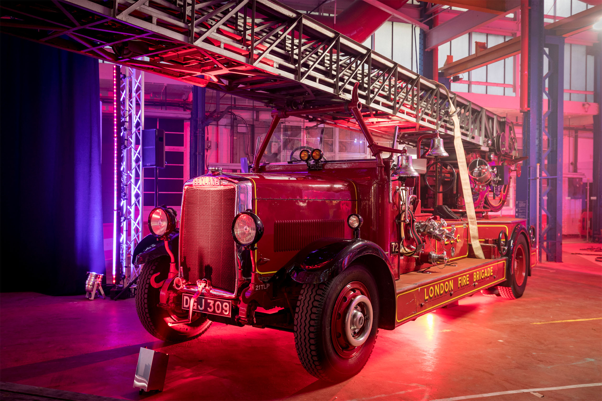
[[[581,11],[570,17],[546,25],[544,27],[545,33],[547,35],[563,37],[579,34],[592,27],[596,17],[600,16],[601,11],[602,4],[598,4],[592,8],[588,8],[588,10]],[[519,36],[447,64],[446,66],[441,67],[439,71],[441,71],[444,76],[451,77],[495,63],[504,58],[512,57],[519,54],[520,51],[521,37]]]

